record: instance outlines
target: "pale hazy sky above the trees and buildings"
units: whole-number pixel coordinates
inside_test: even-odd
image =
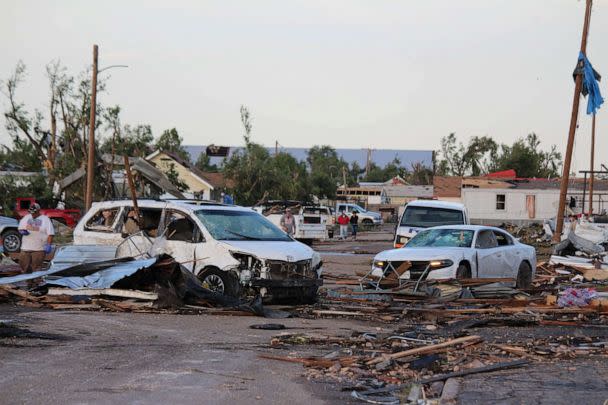
[[[20,96],[46,109],[44,66],[72,72],[100,47],[104,105],[122,121],[177,127],[187,144],[438,149],[442,136],[512,142],[535,131],[564,148],[580,0],[0,0],[0,78],[28,67]],[[608,1],[596,0],[588,56],[608,77]],[[607,79],[608,81],[608,79]],[[601,84],[608,96],[606,81]],[[5,100],[1,101],[5,106]],[[587,168],[583,101],[575,170]],[[608,106],[604,107],[607,109]],[[597,118],[597,162],[608,123]],[[608,117],[608,116],[607,116]],[[608,118],[607,118],[608,120]],[[0,129],[0,141],[8,140]]]

